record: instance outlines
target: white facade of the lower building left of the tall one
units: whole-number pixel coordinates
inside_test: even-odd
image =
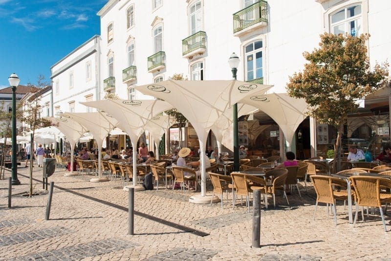
[[[92,111],[79,102],[100,100],[100,36],[93,36],[51,66],[53,113]]]

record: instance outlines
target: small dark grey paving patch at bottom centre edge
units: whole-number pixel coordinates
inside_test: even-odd
[[[155,256],[144,259],[145,261],[164,261],[164,260],[183,260],[183,261],[198,261],[209,260],[217,254],[217,251],[212,249],[198,248],[174,248],[170,251],[158,253]]]

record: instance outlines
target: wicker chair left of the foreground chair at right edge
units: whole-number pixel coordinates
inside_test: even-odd
[[[312,184],[314,185],[314,189],[316,192],[316,203],[315,203],[315,210],[314,210],[314,217],[313,220],[315,220],[315,214],[316,209],[318,207],[318,203],[326,203],[327,205],[327,215],[328,212],[328,204],[331,204],[331,206],[334,209],[334,222],[337,224],[337,208],[335,206],[335,201],[337,199],[347,200],[348,199],[348,192],[346,190],[334,190],[334,186],[338,186],[340,188],[347,188],[347,183],[345,180],[331,177],[331,176],[325,176],[325,175],[312,175],[311,176]]]

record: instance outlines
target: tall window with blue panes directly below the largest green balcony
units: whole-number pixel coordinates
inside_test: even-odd
[[[263,77],[262,50],[262,41],[256,41],[244,46],[246,81]]]

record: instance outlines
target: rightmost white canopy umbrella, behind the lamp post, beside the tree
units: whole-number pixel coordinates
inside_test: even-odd
[[[290,97],[286,93],[270,93],[245,97],[240,101],[268,114],[280,126],[290,150],[295,131],[306,118],[307,103],[304,99]]]

